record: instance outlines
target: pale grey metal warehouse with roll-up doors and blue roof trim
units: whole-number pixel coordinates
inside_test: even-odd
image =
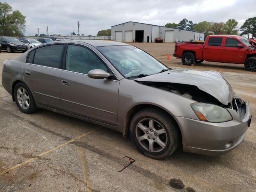
[[[204,40],[204,33],[132,21],[111,27],[111,39],[118,42],[155,42],[159,37],[166,43]]]

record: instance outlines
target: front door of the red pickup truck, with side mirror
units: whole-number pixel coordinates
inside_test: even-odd
[[[242,44],[235,38],[226,38],[222,52],[222,60],[224,62],[242,63],[244,61],[246,47],[237,47]]]

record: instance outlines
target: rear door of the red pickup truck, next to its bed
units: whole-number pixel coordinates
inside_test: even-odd
[[[222,61],[222,37],[210,37],[204,44],[203,59],[206,61]]]

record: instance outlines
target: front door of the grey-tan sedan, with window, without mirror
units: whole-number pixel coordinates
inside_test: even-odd
[[[111,125],[117,124],[117,80],[92,79],[93,69],[110,72],[96,53],[85,46],[68,45],[65,70],[61,72],[62,110]]]

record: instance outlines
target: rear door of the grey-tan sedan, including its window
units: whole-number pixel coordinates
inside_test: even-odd
[[[60,74],[64,44],[51,44],[30,52],[23,76],[38,104],[61,109]]]

